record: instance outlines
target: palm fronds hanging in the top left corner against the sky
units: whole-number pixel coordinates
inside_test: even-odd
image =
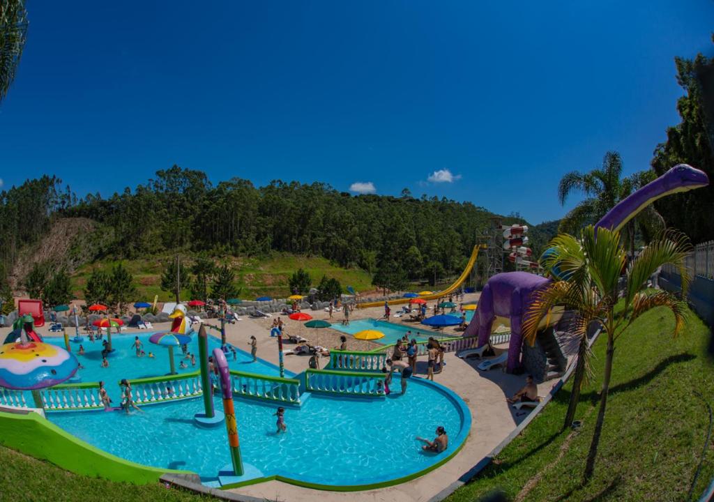
[[[15,79],[27,33],[24,0],[0,2],[0,102]]]

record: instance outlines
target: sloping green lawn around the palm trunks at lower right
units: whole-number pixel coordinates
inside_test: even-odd
[[[672,328],[671,314],[658,308],[638,319],[615,343],[605,426],[595,476],[587,486],[580,486],[580,480],[597,415],[604,336],[594,346],[596,378],[583,390],[575,417],[583,421],[583,428],[575,433],[560,430],[570,396],[568,384],[521,436],[448,502],[476,501],[496,490],[523,501],[686,500],[709,426],[708,410],[694,391],[714,406],[714,364],[707,354],[709,331],[699,318],[692,313],[678,338],[670,337]],[[710,443],[695,500],[713,476]]]

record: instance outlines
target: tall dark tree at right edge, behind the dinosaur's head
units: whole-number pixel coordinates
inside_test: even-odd
[[[714,41],[714,38],[713,38]],[[682,121],[667,129],[667,141],[658,144],[651,166],[660,176],[677,164],[690,164],[714,180],[714,117],[707,117],[698,76],[714,66],[714,59],[675,58],[677,81],[685,91],[677,101]],[[709,126],[707,126],[709,119]],[[680,229],[694,242],[714,239],[714,184],[655,201],[668,226]]]

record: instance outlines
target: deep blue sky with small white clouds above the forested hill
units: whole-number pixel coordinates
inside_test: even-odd
[[[648,168],[678,122],[673,58],[711,54],[714,30],[709,0],[28,4],[6,187],[46,173],[107,196],[178,164],[535,223],[608,149]]]

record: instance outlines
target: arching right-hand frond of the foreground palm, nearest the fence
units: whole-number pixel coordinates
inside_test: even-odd
[[[670,263],[678,268],[682,277],[682,294],[686,295],[690,282],[690,273],[685,266],[685,258],[692,251],[692,245],[685,234],[667,230],[655,237],[649,246],[635,258],[628,268],[625,305],[632,303],[635,295],[645,285],[648,278],[660,266]]]

